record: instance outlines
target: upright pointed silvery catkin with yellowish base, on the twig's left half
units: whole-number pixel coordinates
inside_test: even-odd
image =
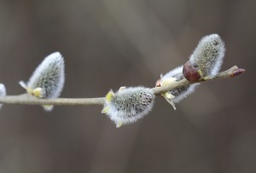
[[[64,68],[62,55],[59,52],[52,53],[36,68],[27,84],[20,81],[20,85],[34,96],[44,99],[57,98],[61,95],[65,82]],[[44,106],[44,109],[49,111],[52,107]]]

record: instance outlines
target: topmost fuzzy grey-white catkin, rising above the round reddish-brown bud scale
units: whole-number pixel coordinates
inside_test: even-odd
[[[215,76],[224,58],[224,42],[218,34],[202,37],[189,60],[202,72],[202,77]]]

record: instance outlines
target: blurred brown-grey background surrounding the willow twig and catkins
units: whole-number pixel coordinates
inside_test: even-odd
[[[120,86],[154,87],[188,60],[201,37],[225,42],[222,70],[177,104],[157,98],[136,124],[116,129],[102,107],[4,105],[0,172],[255,172],[256,1],[0,0],[0,81],[24,93],[46,55],[66,61],[61,97],[98,97]]]

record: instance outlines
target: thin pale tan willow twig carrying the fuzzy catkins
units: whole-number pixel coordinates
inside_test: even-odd
[[[241,73],[245,72],[244,69],[237,66],[231,67],[229,70],[219,72],[215,77],[207,77],[201,81],[195,83],[202,83],[206,81],[212,81],[220,78],[233,78]],[[187,79],[180,80],[176,83],[169,84],[162,87],[152,88],[155,95],[160,95],[166,91],[176,89],[189,84],[195,84],[189,82]],[[99,98],[58,98],[58,99],[38,99],[32,95],[6,95],[0,96],[0,103],[3,104],[22,104],[22,105],[61,105],[61,106],[88,106],[88,105],[104,105],[105,97]]]

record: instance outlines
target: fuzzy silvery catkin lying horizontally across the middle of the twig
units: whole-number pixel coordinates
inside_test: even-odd
[[[153,105],[154,92],[152,89],[144,87],[120,88],[118,92],[113,93],[110,99],[106,99],[102,112],[105,112],[117,127],[120,127],[122,124],[134,123],[143,118]]]

